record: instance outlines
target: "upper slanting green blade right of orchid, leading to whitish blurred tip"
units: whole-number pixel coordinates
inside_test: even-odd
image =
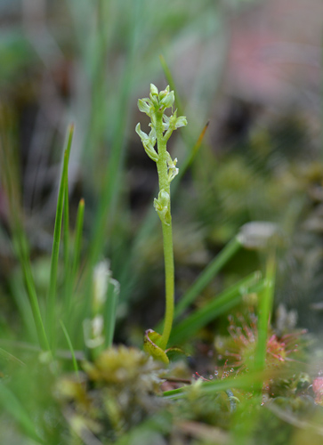
[[[182,296],[179,303],[176,304],[174,319],[182,315],[182,312],[196,300],[198,295],[214,279],[216,274],[221,271],[222,267],[230,261],[230,258],[238,252],[240,247],[241,243],[238,237],[235,237],[215,256],[214,260],[199,274],[198,279],[195,280],[190,289]]]

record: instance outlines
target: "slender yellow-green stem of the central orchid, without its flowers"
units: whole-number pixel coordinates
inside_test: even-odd
[[[156,113],[156,133],[157,133],[157,172],[159,180],[159,190],[165,190],[170,196],[170,183],[168,181],[167,160],[166,160],[166,140],[163,133],[163,113]],[[169,203],[169,212],[170,203]],[[174,319],[174,253],[173,253],[173,231],[172,222],[162,221],[164,261],[165,261],[165,287],[166,287],[166,312],[164,330],[159,346],[166,349],[169,336],[171,334]]]

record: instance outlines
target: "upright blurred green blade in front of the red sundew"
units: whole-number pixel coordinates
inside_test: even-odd
[[[264,287],[262,294],[260,295],[260,301],[259,301],[258,342],[254,357],[254,368],[257,371],[261,371],[265,367],[265,362],[266,362],[268,327],[272,311],[275,276],[276,276],[276,255],[275,255],[275,250],[272,250],[267,259],[266,277],[264,280]]]

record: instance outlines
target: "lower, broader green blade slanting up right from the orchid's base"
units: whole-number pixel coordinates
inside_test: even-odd
[[[176,325],[170,337],[169,344],[181,344],[190,339],[204,328],[207,323],[213,321],[222,313],[229,311],[233,306],[240,303],[242,297],[250,292],[258,292],[263,287],[261,272],[256,271],[245,279],[241,279],[229,289],[225,289],[214,300],[190,314],[185,320]]]

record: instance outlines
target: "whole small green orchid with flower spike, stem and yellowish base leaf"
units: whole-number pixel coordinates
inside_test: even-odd
[[[158,197],[154,199],[154,207],[159,215],[163,230],[165,276],[166,276],[166,313],[163,334],[160,335],[153,329],[148,329],[144,336],[144,350],[155,359],[168,363],[166,355],[167,343],[171,334],[174,319],[174,253],[171,215],[171,191],[170,185],[178,168],[177,159],[172,159],[167,151],[167,141],[174,130],[187,125],[186,117],[177,117],[177,110],[171,116],[167,116],[166,109],[174,104],[174,91],[170,91],[169,85],[165,90],[158,92],[157,87],[150,84],[149,98],[140,99],[138,108],[142,113],[150,117],[150,132],[141,131],[141,125],[135,127],[140,136],[143,148],[149,158],[156,162],[159,182]],[[157,150],[155,145],[157,143]]]

